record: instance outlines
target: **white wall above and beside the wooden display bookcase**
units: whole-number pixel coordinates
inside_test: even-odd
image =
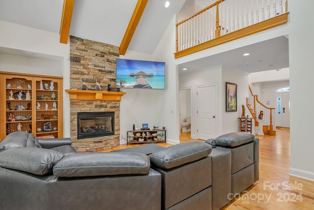
[[[70,45],[59,43],[59,34],[2,20],[0,20],[0,28],[0,47],[19,50],[21,53],[37,53],[38,56],[44,56],[46,59],[40,61],[36,57],[2,53],[0,71],[63,77],[63,89],[69,89]],[[51,66],[45,67],[47,64]],[[63,122],[63,136],[70,137],[70,101],[65,91],[63,92]]]

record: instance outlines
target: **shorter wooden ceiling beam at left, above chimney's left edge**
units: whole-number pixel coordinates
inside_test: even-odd
[[[63,0],[63,10],[60,25],[60,43],[67,44],[71,26],[72,12],[75,0]]]

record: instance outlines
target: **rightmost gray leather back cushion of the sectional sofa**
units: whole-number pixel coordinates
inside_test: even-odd
[[[236,147],[242,144],[253,141],[255,136],[247,132],[232,132],[221,135],[211,141],[211,145],[217,145],[221,147]]]

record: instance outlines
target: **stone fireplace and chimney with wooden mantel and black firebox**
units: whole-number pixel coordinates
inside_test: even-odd
[[[78,152],[107,150],[120,143],[121,96],[116,96],[120,92],[94,90],[96,82],[103,90],[108,84],[116,87],[117,58],[119,47],[70,36],[70,89],[66,92],[70,94],[70,137]],[[88,90],[80,90],[82,82]],[[109,112],[111,127],[105,122],[108,116],[99,118],[100,113]],[[96,120],[84,120],[95,113]],[[83,120],[81,114],[85,114]]]

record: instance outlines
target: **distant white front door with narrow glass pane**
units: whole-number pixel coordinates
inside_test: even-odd
[[[290,94],[276,93],[276,126],[290,128]]]

